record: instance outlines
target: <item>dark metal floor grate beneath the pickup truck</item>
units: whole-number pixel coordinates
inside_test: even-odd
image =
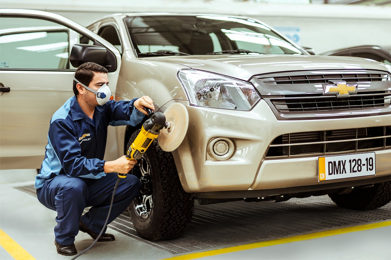
[[[34,186],[17,189],[35,196]],[[127,212],[108,225],[135,240],[172,254],[194,253],[283,237],[358,226],[391,219],[391,203],[369,211],[337,207],[328,196],[273,201],[195,203],[188,231],[177,239],[148,241],[136,232]]]

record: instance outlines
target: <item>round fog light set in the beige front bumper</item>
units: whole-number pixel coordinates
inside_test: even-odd
[[[232,157],[235,146],[231,139],[218,137],[209,141],[206,151],[215,160],[227,160]]]

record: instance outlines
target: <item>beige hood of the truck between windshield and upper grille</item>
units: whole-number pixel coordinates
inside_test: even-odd
[[[325,69],[375,69],[387,71],[381,63],[356,57],[318,55],[189,55],[148,57],[143,60],[166,61],[249,80],[254,75],[280,71]]]

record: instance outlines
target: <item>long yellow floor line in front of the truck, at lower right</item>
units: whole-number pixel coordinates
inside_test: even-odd
[[[237,252],[237,251],[242,251],[242,250],[247,250],[247,249],[263,248],[266,246],[274,246],[274,245],[286,244],[286,243],[297,242],[297,241],[308,240],[308,239],[329,237],[329,236],[333,236],[333,235],[340,235],[340,234],[350,233],[350,232],[355,232],[355,231],[369,230],[369,229],[380,228],[380,227],[384,227],[384,226],[391,226],[391,221],[365,224],[365,225],[361,225],[361,226],[352,226],[352,227],[348,227],[348,228],[328,230],[328,231],[311,233],[311,234],[306,234],[306,235],[299,235],[299,236],[295,236],[295,237],[286,237],[286,238],[282,238],[282,239],[257,242],[257,243],[253,243],[253,244],[242,245],[242,246],[233,246],[230,248],[215,249],[215,250],[199,252],[199,253],[190,253],[187,255],[179,255],[179,256],[174,256],[174,257],[170,257],[170,258],[165,258],[162,260],[191,260],[191,259],[202,258],[202,257],[206,257],[206,256],[222,255],[225,253],[232,253],[232,252]]]

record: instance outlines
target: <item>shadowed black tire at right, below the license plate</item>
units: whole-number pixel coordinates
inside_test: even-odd
[[[391,182],[376,183],[373,187],[353,189],[348,194],[331,193],[328,196],[339,207],[353,210],[380,208],[391,201]]]

